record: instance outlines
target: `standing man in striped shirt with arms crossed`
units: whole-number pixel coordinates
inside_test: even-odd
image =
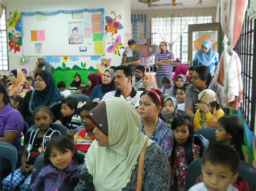
[[[164,77],[167,77],[167,79],[172,82],[173,53],[167,51],[167,44],[165,42],[161,42],[159,47],[161,52],[156,54],[156,57],[154,58],[154,63],[156,63],[156,65],[158,66],[156,72],[157,86],[161,88],[161,82]]]

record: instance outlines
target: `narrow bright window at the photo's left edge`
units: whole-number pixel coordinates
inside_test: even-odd
[[[0,19],[0,70],[9,70],[5,9]]]

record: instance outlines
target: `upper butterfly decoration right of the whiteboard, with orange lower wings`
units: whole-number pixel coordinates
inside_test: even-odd
[[[116,21],[117,18],[121,19],[122,16],[120,15],[116,16],[116,12],[114,11],[111,11],[111,14],[114,14],[114,19],[109,16],[105,17],[106,23],[107,23],[107,25],[105,26],[105,30],[106,30],[106,33],[111,32],[112,33],[111,36],[113,36],[113,34],[117,33],[118,29],[123,29],[123,25]]]

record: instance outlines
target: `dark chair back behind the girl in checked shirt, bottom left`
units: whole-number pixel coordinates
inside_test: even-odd
[[[79,165],[82,165],[84,163],[85,154],[86,153],[84,153],[82,151],[77,151],[77,160],[78,160]],[[32,175],[31,175],[31,183],[35,180],[36,176],[39,174],[41,169],[45,166],[47,166],[47,165],[44,163],[44,153],[42,153],[37,157],[37,159],[33,165]]]

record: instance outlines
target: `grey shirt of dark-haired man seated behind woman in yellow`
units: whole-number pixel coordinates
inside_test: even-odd
[[[219,105],[221,107],[222,103],[222,98],[224,95],[224,87],[221,86],[218,82],[214,82],[214,80],[211,81],[210,86],[208,89],[211,89],[217,94]],[[193,86],[193,84],[190,84],[187,87],[186,90],[186,102],[185,102],[185,107],[186,106],[192,106],[193,107],[193,113],[195,114],[197,111],[197,108],[195,108],[194,104],[197,103],[198,101],[198,94],[200,93],[200,89],[196,88]]]

